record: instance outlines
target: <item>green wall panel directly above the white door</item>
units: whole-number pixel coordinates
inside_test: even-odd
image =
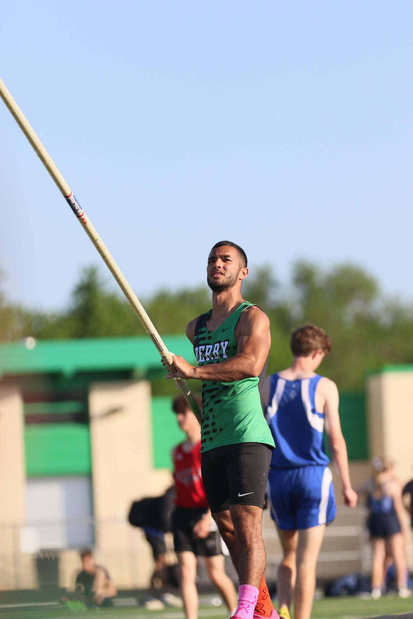
[[[90,475],[89,426],[59,423],[25,426],[27,477]]]

